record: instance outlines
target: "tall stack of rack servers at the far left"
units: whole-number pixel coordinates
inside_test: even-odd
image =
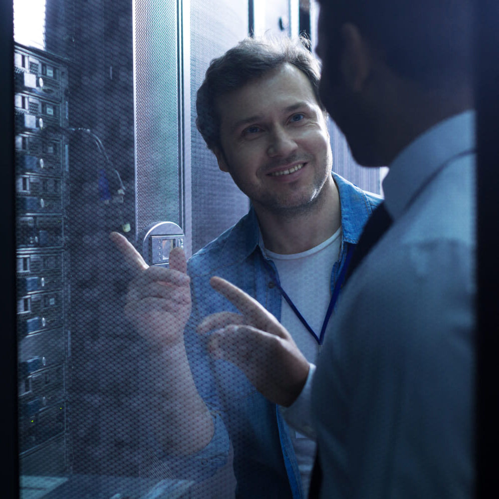
[[[21,474],[67,469],[69,330],[67,68],[14,49],[16,276]],[[40,464],[43,465],[40,466]]]

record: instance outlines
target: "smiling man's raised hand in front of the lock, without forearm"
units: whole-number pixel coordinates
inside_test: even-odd
[[[184,250],[170,252],[169,268],[149,266],[129,241],[117,232],[110,239],[135,277],[128,286],[125,314],[151,346],[183,342],[191,314],[190,278]]]

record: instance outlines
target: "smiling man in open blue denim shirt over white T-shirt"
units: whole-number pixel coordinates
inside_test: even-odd
[[[126,311],[159,352],[158,403],[170,428],[160,440],[173,456],[163,462],[177,470],[182,463],[185,478],[203,463],[216,470],[228,455],[228,432],[242,498],[307,495],[315,443],[288,426],[303,418],[298,404],[288,406],[305,384],[310,390],[348,260],[380,202],[331,172],[319,78],[318,62],[302,41],[284,37],[248,38],[214,59],[198,91],[197,125],[220,169],[250,198],[249,213],[193,255],[187,269],[180,250],[169,269],[144,269],[130,245],[113,235],[140,269]],[[260,342],[236,328],[226,343],[230,351],[217,356],[210,330],[239,316],[223,312],[228,303],[210,286],[214,274],[244,289],[292,336]],[[196,330],[210,314],[211,322]],[[254,363],[269,387],[288,387],[277,405],[255,390]],[[175,379],[176,387],[170,390],[165,379]]]

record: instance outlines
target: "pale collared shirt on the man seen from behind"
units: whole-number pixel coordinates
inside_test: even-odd
[[[312,387],[322,498],[471,497],[475,116],[411,143],[394,223],[346,284]]]

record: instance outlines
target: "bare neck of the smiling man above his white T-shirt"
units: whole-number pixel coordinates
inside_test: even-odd
[[[301,253],[330,238],[341,226],[339,193],[329,177],[317,201],[295,215],[272,213],[254,206],[263,244],[280,254]]]

